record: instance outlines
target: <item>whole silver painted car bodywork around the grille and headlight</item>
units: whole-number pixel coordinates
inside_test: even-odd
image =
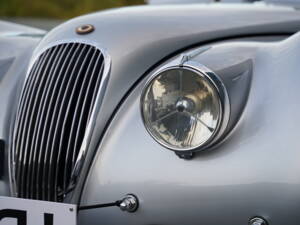
[[[96,29],[76,34],[83,24]],[[44,38],[39,30],[13,28],[0,35],[5,62],[0,58],[5,106],[0,138],[6,142],[6,157],[21,87],[42,49],[76,40],[101,46],[111,57],[89,143],[96,151],[86,155],[66,202],[92,205],[133,193],[140,208],[132,214],[117,208],[86,210],[78,214],[80,225],[235,225],[257,215],[272,225],[298,224],[300,37],[282,39],[300,30],[299,11],[259,5],[145,6],[82,16]],[[140,94],[155,71],[182,53],[207,46],[193,60],[222,78],[230,90],[232,113],[220,142],[192,160],[182,160],[145,130]],[[10,58],[14,64],[8,63]],[[5,168],[0,195],[9,196]]]

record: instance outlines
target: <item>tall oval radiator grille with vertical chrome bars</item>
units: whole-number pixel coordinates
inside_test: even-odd
[[[18,197],[63,200],[87,133],[104,65],[102,52],[82,43],[51,47],[33,64],[13,135],[12,176]]]

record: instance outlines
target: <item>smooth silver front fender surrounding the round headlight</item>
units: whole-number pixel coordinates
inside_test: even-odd
[[[219,70],[224,79],[228,74],[225,76],[222,71],[238,62],[231,61],[235,58],[234,50],[247,47],[248,51],[236,54],[250,56],[252,52],[254,68],[244,108],[226,139],[188,161],[164,151],[147,136],[139,117],[139,96],[146,80],[141,82],[121,107],[99,146],[82,198],[86,205],[131,192],[139,196],[140,209],[133,215],[110,209],[83,212],[80,222],[96,224],[93,221],[101,218],[105,224],[126,221],[139,225],[196,225],[201,221],[207,225],[239,225],[260,215],[272,225],[297,225],[299,46],[300,34],[274,44],[213,46],[211,51],[218,52],[224,60],[223,70],[209,51],[197,58]],[[224,57],[228,53],[231,58]],[[236,76],[229,79],[232,83],[228,92],[234,89]],[[224,82],[227,87],[229,80]],[[239,87],[240,93],[245,90],[242,85]]]

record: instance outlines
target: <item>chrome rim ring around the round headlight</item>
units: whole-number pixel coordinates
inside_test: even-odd
[[[164,141],[161,141],[154,135],[154,132],[152,131],[151,127],[147,125],[146,118],[144,116],[143,112],[143,100],[145,98],[146,90],[149,88],[151,83],[159,77],[162,73],[174,70],[174,69],[185,69],[189,70],[191,72],[194,72],[201,78],[203,78],[206,82],[210,84],[211,87],[214,88],[215,93],[218,96],[218,105],[219,105],[219,119],[216,126],[216,129],[214,130],[213,134],[210,136],[209,139],[207,139],[204,143],[201,143],[194,147],[187,147],[187,148],[177,148],[175,146],[171,146],[166,144]],[[224,135],[224,132],[227,128],[229,117],[230,117],[230,102],[228,93],[226,90],[225,85],[223,84],[222,80],[219,78],[219,76],[214,73],[212,70],[207,68],[206,66],[195,62],[195,61],[187,61],[183,64],[167,64],[166,66],[160,68],[156,72],[154,72],[152,75],[150,75],[150,78],[146,81],[142,94],[140,97],[140,113],[142,117],[142,121],[144,124],[144,127],[146,128],[147,132],[150,134],[150,136],[161,146],[165,147],[168,150],[175,151],[176,153],[193,153],[198,151],[206,150],[208,147],[211,147],[213,144],[218,142],[220,138]]]

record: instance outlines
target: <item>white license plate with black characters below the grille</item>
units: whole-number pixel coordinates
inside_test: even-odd
[[[77,206],[0,197],[0,225],[76,225]]]

